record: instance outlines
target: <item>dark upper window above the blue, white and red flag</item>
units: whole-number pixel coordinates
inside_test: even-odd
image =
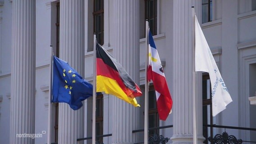
[[[145,0],[145,18],[152,35],[157,34],[157,0]]]

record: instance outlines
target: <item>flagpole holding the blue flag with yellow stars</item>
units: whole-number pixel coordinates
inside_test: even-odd
[[[47,128],[47,144],[51,144],[51,116],[52,116],[52,103],[51,103],[51,87],[52,87],[52,61],[53,61],[53,49],[52,45],[50,45],[50,84],[49,84],[49,99],[48,99],[48,128]]]

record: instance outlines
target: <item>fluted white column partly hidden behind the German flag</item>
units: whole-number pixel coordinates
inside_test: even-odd
[[[114,58],[139,82],[139,0],[113,0]],[[139,102],[138,102],[139,103]],[[113,98],[113,144],[133,144],[137,139],[139,108]]]

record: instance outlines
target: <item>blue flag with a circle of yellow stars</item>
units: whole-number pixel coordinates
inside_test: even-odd
[[[68,103],[77,110],[82,101],[92,96],[92,85],[82,79],[69,64],[57,57],[53,58],[52,102]]]

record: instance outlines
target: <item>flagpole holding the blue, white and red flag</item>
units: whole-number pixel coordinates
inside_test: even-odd
[[[146,61],[145,61],[145,110],[144,110],[144,144],[148,144],[148,90],[149,82],[147,80],[147,68],[148,68],[148,21],[146,20]]]

